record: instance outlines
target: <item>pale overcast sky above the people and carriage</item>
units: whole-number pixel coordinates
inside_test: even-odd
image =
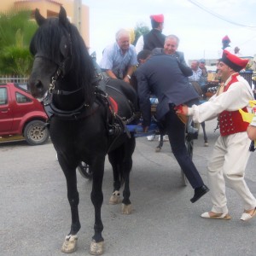
[[[158,14],[165,16],[163,33],[180,38],[178,49],[184,52],[187,61],[218,58],[225,35],[229,36],[231,47],[238,46],[242,55],[256,54],[255,0],[83,0],[83,3],[90,8],[90,51],[96,50],[97,61],[102,58],[102,49],[114,42],[119,28],[134,28],[143,22],[151,29],[149,15]]]

